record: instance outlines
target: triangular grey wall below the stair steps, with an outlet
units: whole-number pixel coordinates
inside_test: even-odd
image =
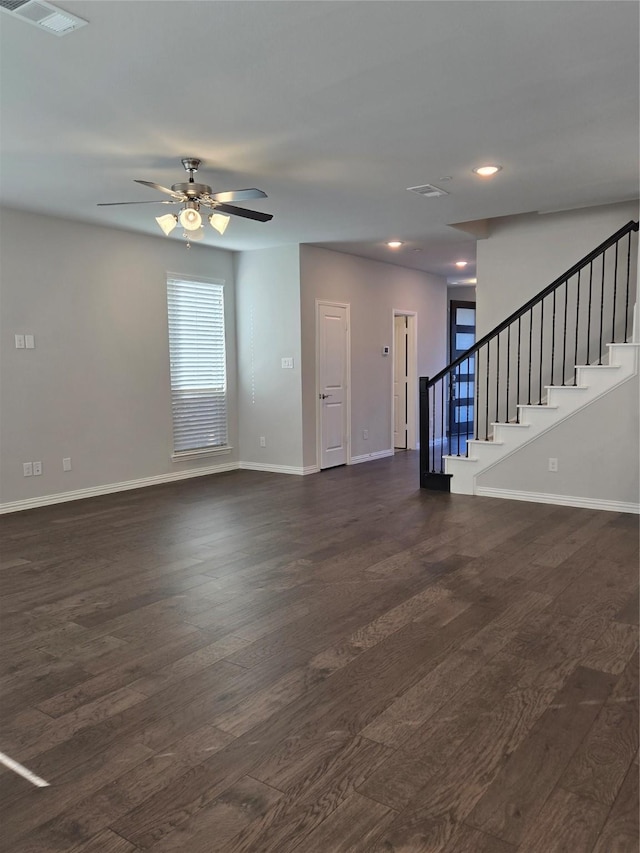
[[[478,487],[640,502],[638,374],[477,477]],[[550,472],[549,458],[558,460]]]

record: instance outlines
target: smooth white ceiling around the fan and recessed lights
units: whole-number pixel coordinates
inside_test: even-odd
[[[133,179],[170,186],[195,156],[198,180],[259,187],[244,206],[274,214],[210,245],[457,278],[475,242],[453,223],[638,196],[635,2],[57,5],[89,26],[58,38],[0,13],[7,206],[159,234],[167,207],[96,202],[151,200]],[[483,181],[485,162],[503,171]],[[406,190],[444,176],[445,198]]]

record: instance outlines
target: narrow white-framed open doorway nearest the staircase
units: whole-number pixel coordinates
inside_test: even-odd
[[[413,311],[393,312],[393,448],[417,448],[417,327]]]

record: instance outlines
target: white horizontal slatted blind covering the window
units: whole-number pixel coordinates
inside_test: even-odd
[[[167,279],[175,454],[227,444],[223,285]]]

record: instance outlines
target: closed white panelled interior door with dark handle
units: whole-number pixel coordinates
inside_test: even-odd
[[[346,305],[318,303],[320,467],[347,463],[348,313]]]

